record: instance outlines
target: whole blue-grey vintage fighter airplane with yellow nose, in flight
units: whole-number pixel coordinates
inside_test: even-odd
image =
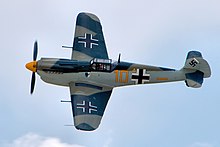
[[[66,46],[63,46],[66,47]],[[99,18],[79,13],[71,59],[41,58],[37,60],[35,41],[33,61],[26,64],[32,71],[30,93],[34,91],[35,73],[50,84],[69,87],[74,126],[78,130],[96,130],[115,87],[185,81],[199,88],[211,76],[208,62],[199,51],[189,51],[180,70],[109,59]]]

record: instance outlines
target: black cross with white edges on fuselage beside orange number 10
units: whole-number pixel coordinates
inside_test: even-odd
[[[146,74],[146,69],[137,69],[136,73],[132,73],[131,80],[135,84],[144,84],[150,80],[150,74]]]

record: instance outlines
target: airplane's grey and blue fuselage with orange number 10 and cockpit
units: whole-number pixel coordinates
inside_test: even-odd
[[[91,61],[42,58],[37,61],[37,73],[43,81],[60,86],[74,82],[113,88],[185,79],[179,70],[96,58]]]

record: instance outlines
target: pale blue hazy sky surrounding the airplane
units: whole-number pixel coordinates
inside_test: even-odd
[[[219,147],[219,0],[1,0],[0,146],[3,147]],[[72,124],[69,89],[37,76],[30,95],[32,60],[70,58],[76,16],[96,14],[110,58],[181,69],[197,50],[212,76],[203,87],[184,82],[114,89],[101,125],[82,132]]]

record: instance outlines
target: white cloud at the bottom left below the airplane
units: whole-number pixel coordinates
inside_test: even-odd
[[[28,133],[11,143],[4,144],[3,147],[83,147],[77,144],[61,142],[59,138],[43,137],[38,134]]]

